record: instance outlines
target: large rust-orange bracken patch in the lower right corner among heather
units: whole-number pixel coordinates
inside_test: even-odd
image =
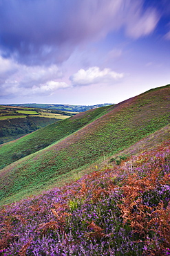
[[[153,166],[149,165],[151,167]],[[162,201],[150,206],[145,205],[142,199],[144,192],[151,192],[160,184],[169,183],[169,174],[164,174],[159,179],[161,169],[151,168],[151,172],[141,179],[136,174],[129,175],[122,187],[124,196],[119,207],[123,223],[129,223],[134,234],[138,235],[138,241],[145,243],[145,255],[164,255],[164,251],[170,248],[170,202],[165,208]],[[155,237],[158,237],[157,242]]]

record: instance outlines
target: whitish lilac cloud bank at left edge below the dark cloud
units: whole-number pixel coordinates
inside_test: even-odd
[[[0,98],[17,95],[51,95],[57,89],[67,88],[59,82],[63,72],[56,65],[25,66],[0,57]]]

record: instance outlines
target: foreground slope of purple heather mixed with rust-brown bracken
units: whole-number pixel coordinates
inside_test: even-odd
[[[3,205],[0,255],[170,255],[170,141]]]

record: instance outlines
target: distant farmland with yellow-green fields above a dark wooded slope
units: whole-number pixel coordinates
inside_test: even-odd
[[[58,120],[74,116],[74,112],[0,106],[0,144],[29,134]]]

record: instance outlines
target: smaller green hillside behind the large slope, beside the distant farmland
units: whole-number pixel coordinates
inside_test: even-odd
[[[107,109],[108,107],[101,107],[89,110],[85,113],[79,113],[72,118],[55,122],[32,134],[23,136],[18,140],[0,145],[0,169],[17,161],[19,158],[37,152],[57,140],[69,136],[81,127],[87,125],[87,123],[92,122],[98,115],[104,114]]]

